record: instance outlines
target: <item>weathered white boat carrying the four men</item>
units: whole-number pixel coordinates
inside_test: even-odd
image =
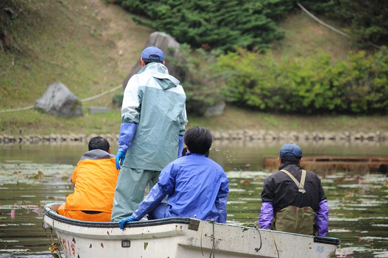
[[[44,208],[43,228],[55,234],[66,258],[329,258],[339,239],[172,217],[129,222],[86,222]],[[52,246],[54,246],[53,244]],[[59,252],[58,252],[59,254]],[[53,253],[57,256],[57,254]]]

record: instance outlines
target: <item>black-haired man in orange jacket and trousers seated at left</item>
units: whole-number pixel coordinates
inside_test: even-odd
[[[92,138],[89,151],[73,171],[74,193],[67,196],[58,214],[83,221],[111,221],[118,173],[109,142]]]

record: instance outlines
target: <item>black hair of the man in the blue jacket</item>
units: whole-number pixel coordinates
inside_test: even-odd
[[[190,152],[205,154],[211,147],[213,137],[206,128],[194,126],[186,131],[184,142]]]

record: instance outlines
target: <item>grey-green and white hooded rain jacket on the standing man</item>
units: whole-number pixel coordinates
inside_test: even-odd
[[[131,77],[122,120],[137,123],[128,151],[132,168],[162,170],[177,158],[179,131],[186,123],[185,101],[179,81],[161,63],[150,63]]]

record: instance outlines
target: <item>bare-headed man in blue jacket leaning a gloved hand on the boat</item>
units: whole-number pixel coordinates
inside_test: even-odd
[[[214,219],[226,223],[226,197],[229,181],[223,168],[206,157],[212,136],[203,127],[192,127],[184,136],[187,153],[165,167],[159,182],[150,190],[139,209],[120,221],[124,229],[127,222],[168,217],[194,217]],[[167,198],[167,203],[162,202]]]

